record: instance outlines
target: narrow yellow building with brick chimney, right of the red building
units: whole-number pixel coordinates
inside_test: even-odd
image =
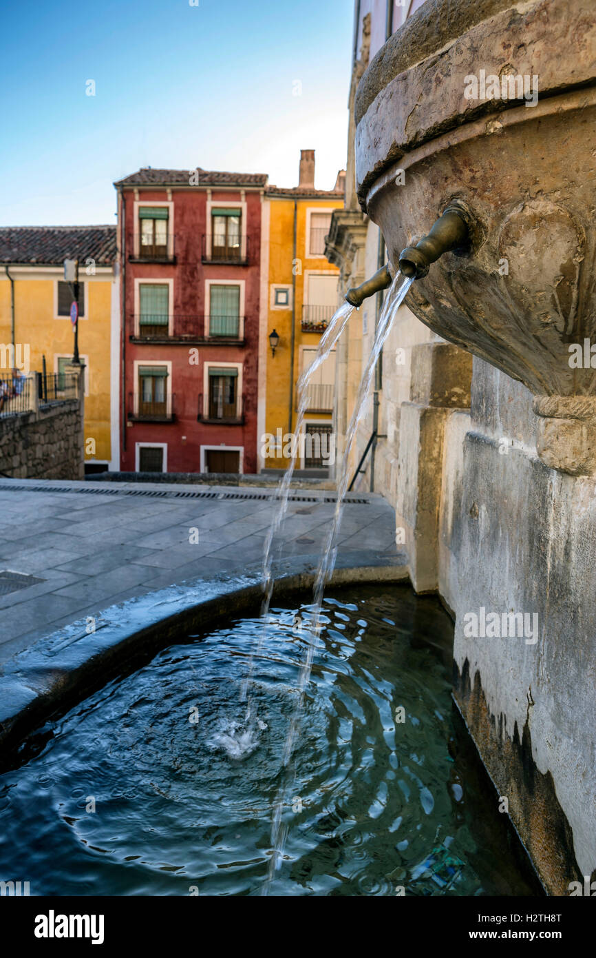
[[[343,207],[343,176],[341,171],[334,190],[315,190],[314,165],[314,151],[302,150],[298,187],[268,188],[266,336],[261,322],[267,347],[266,359],[265,351],[261,353],[265,359],[264,468],[288,465],[289,435],[298,416],[298,377],[312,362],[337,308],[339,270],[325,259],[324,240],[333,210]],[[275,353],[269,340],[272,333],[278,337]],[[298,446],[296,468],[319,470],[332,465],[335,360],[333,353],[309,384],[305,438]]]

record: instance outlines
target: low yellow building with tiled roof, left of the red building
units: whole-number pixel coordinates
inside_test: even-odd
[[[115,227],[0,229],[0,378],[11,372],[12,355],[23,373],[42,373],[45,358],[46,373],[59,376],[72,361],[72,293],[64,283],[64,259],[79,262],[85,471],[117,469],[120,284]]]

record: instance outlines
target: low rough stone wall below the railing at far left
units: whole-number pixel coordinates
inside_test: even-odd
[[[13,479],[84,479],[79,400],[0,417],[0,472]]]

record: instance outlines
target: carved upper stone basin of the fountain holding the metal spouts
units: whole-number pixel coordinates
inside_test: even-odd
[[[463,3],[456,23],[450,10],[425,4],[364,75],[361,204],[394,266],[446,206],[461,206],[471,249],[433,263],[411,287],[408,307],[534,394],[547,465],[593,473],[596,368],[584,360],[596,326],[593,7]],[[481,71],[485,90],[491,76],[529,78],[535,104],[469,99]]]

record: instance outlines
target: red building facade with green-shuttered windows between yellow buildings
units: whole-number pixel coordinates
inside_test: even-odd
[[[256,471],[266,185],[150,168],[115,184],[121,470]]]

